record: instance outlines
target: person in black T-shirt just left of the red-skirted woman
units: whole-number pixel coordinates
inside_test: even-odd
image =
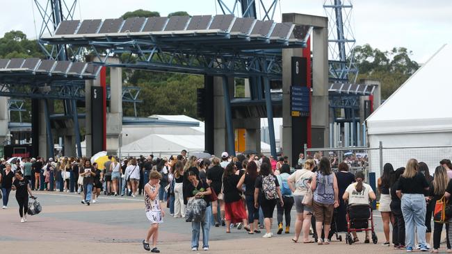
[[[209,183],[212,191],[216,193],[216,195],[221,194],[221,187],[223,185],[221,178],[223,177],[223,172],[225,169],[220,166],[220,159],[213,158],[212,159],[213,167],[207,170],[207,183]],[[218,218],[218,205],[220,205],[220,218]],[[223,226],[225,226],[225,201],[218,199],[218,201],[212,202],[212,213],[213,213],[213,221],[215,221],[215,226],[220,226],[220,221]]]

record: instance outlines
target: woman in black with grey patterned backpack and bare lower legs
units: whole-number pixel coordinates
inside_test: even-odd
[[[282,200],[280,183],[278,183],[275,175],[273,175],[271,167],[268,163],[261,164],[261,171],[256,178],[255,183],[255,208],[262,208],[264,212],[264,224],[266,234],[262,237],[273,237],[271,232],[271,224],[273,222],[273,210],[277,203],[277,199],[280,199],[280,205],[284,206]]]

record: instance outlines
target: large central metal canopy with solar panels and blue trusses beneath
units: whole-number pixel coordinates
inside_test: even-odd
[[[281,49],[305,47],[311,31],[234,15],[133,17],[61,22],[54,35],[40,41],[88,48],[104,59],[99,65],[280,79]],[[126,60],[107,63],[113,53]]]

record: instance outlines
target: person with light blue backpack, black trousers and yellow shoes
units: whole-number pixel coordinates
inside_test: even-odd
[[[289,164],[283,164],[280,169],[280,175],[276,176],[278,183],[280,183],[282,200],[284,201],[284,206],[280,205],[280,203],[276,204],[277,208],[277,225],[278,230],[277,234],[281,235],[282,233],[282,216],[286,217],[286,234],[289,234],[289,229],[291,226],[291,210],[293,207],[293,196],[291,187],[289,187],[290,183],[288,183],[287,179],[289,178],[291,172],[291,167]]]

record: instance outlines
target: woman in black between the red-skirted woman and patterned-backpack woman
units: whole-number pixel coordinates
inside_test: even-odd
[[[259,209],[255,208],[255,183],[257,178],[257,165],[253,160],[246,165],[246,173],[244,173],[239,183],[237,183],[237,189],[242,189],[245,184],[245,201],[246,208],[248,209],[248,223],[250,225],[250,234],[260,233],[257,228],[257,222],[259,221]]]

